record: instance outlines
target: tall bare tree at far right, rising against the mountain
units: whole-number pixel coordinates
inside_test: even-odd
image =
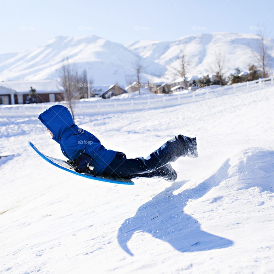
[[[265,45],[266,37],[262,29],[257,32],[257,35],[259,39],[256,41],[256,49],[255,51],[251,49],[251,51],[258,63],[258,67],[261,68],[263,72],[263,78],[265,78],[269,75],[269,54],[267,52],[267,46]]]

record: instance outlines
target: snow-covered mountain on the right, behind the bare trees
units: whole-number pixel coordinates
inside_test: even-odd
[[[148,70],[157,69],[151,63],[159,64],[162,69],[157,69],[157,76],[174,78],[174,69],[178,66],[178,57],[182,52],[189,63],[188,76],[212,74],[215,52],[225,56],[225,72],[234,72],[240,67],[247,70],[249,64],[255,63],[253,49],[258,52],[257,35],[239,33],[212,33],[186,36],[171,42],[141,40],[128,43],[126,47],[139,54],[144,60]],[[266,42],[269,49],[270,64],[274,64],[273,40]]]

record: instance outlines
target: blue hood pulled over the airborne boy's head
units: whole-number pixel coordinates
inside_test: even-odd
[[[74,125],[72,115],[62,105],[54,105],[47,108],[39,115],[38,119],[52,132],[52,139],[59,144],[64,131]]]

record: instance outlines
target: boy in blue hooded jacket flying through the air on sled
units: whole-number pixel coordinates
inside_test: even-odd
[[[196,138],[178,135],[147,158],[127,159],[123,152],[106,149],[93,134],[74,124],[65,106],[51,106],[38,118],[60,144],[63,154],[73,161],[76,172],[92,169],[95,175],[129,179],[158,176],[174,182],[177,173],[169,162],[181,156],[198,157]]]

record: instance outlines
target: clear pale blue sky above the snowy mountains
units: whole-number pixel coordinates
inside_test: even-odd
[[[0,7],[0,53],[31,49],[60,35],[94,34],[124,44],[203,32],[256,33],[262,26],[272,37],[274,26],[270,0],[0,0]]]

